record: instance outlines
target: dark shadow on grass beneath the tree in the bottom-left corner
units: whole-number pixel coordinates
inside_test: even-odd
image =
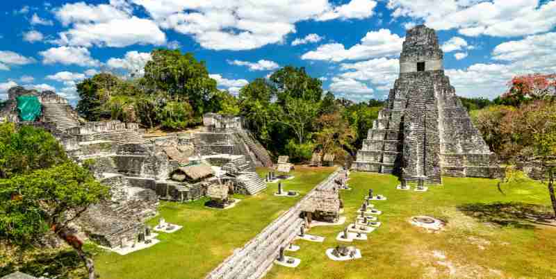
[[[15,271],[57,279],[85,278],[83,262],[74,251],[39,253],[33,255],[32,260],[24,263],[9,262],[0,267],[0,277]]]

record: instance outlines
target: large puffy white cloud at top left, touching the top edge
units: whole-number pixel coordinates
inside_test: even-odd
[[[92,47],[127,47],[131,44],[166,43],[166,35],[156,22],[131,15],[125,1],[112,0],[110,4],[88,5],[83,2],[67,3],[55,10],[56,18],[64,26],[57,44]]]

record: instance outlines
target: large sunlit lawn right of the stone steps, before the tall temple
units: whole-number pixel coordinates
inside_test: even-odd
[[[267,278],[556,278],[556,228],[526,221],[524,214],[550,212],[546,185],[531,180],[496,187],[497,180],[443,178],[429,192],[395,189],[397,178],[352,173],[353,188],[343,191],[345,216],[352,223],[369,188],[384,194],[375,201],[382,226],[366,242],[336,241],[343,226],[311,228],[324,243],[297,240],[296,269],[275,266]],[[414,186],[414,185],[412,185]],[[447,222],[440,233],[409,224],[416,215]],[[363,258],[334,262],[326,248],[354,245]]]

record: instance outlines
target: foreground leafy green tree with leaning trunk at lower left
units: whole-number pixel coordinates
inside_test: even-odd
[[[51,230],[70,245],[95,279],[92,258],[70,223],[89,205],[108,198],[108,188],[73,162],[0,180],[0,236],[20,246]]]

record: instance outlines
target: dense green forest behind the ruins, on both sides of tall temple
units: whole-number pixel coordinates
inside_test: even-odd
[[[205,112],[244,117],[269,151],[290,155],[293,162],[309,160],[314,151],[353,158],[384,105],[336,99],[322,90],[318,78],[291,66],[256,78],[233,96],[218,90],[204,62],[192,53],[167,49],[152,52],[144,74],[121,78],[101,73],[79,83],[77,90],[77,110],[90,121],[120,119],[149,129],[183,130],[201,124]],[[534,157],[532,142],[539,137],[532,127],[548,135],[556,122],[554,75],[516,77],[508,92],[493,101],[460,100],[491,150],[505,161]]]

